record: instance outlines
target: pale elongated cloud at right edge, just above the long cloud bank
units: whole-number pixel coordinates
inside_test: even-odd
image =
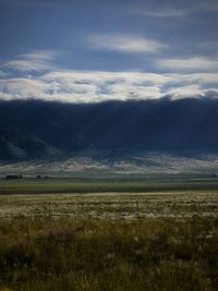
[[[218,59],[206,57],[164,59],[157,61],[157,66],[171,71],[218,71]]]

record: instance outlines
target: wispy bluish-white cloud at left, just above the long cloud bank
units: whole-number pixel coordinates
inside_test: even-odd
[[[34,51],[32,53],[20,54],[17,59],[4,62],[1,66],[22,72],[40,72],[53,69],[51,61],[55,59],[55,51]]]

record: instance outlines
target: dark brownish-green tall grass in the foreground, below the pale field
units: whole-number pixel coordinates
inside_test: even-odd
[[[215,291],[218,219],[3,221],[0,284],[14,291]]]

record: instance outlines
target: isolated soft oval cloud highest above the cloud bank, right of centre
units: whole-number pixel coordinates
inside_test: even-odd
[[[118,52],[149,52],[157,53],[167,45],[133,35],[95,34],[87,36],[89,47],[94,49],[112,50]]]

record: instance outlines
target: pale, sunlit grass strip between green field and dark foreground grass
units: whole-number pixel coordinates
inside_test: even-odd
[[[0,218],[184,218],[217,214],[218,191],[0,195]]]

